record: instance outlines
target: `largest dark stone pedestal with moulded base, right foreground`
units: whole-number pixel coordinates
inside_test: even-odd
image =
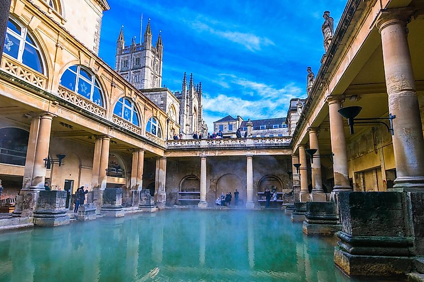
[[[334,248],[336,266],[350,276],[409,272],[414,242],[408,226],[409,200],[402,192],[340,192],[342,231]]]

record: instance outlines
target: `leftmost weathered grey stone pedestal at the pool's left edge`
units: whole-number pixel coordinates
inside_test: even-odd
[[[34,224],[40,226],[69,224],[70,218],[65,208],[66,196],[66,191],[40,191],[34,212]]]

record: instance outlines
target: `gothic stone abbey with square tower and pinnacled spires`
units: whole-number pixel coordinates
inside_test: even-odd
[[[207,134],[207,125],[203,120],[202,83],[195,85],[191,74],[187,84],[187,75],[184,73],[181,92],[172,93],[165,85],[162,87],[163,53],[161,34],[156,45],[152,44],[150,21],[142,44],[135,43],[135,38],[132,38],[131,45],[125,46],[121,28],[116,41],[115,71],[167,112],[169,119],[180,124],[179,132],[167,127],[168,139],[174,134],[183,134],[183,138],[189,138],[196,131]]]

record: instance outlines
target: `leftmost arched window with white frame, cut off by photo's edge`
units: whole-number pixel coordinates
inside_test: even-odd
[[[34,37],[26,27],[11,18],[8,22],[4,52],[31,69],[44,74],[40,48]]]

